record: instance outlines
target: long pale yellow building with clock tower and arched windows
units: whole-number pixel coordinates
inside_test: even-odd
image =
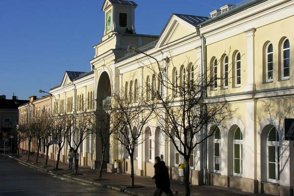
[[[225,95],[236,112],[193,152],[191,183],[293,194],[294,143],[285,140],[284,119],[294,118],[294,2],[247,0],[223,6],[210,18],[173,14],[160,36],[136,34],[136,6],[133,1],[104,1],[104,36],[94,47],[91,71],[65,73],[61,85],[50,90],[56,98],[52,111],[95,112],[103,100],[124,89],[146,94],[147,84],[163,95],[172,94],[153,84],[150,68],[157,69],[153,58],[171,80],[184,69],[192,69],[195,77],[205,70],[208,77],[216,78],[207,89],[207,104],[224,101]],[[128,53],[129,44],[153,58]],[[208,131],[213,126],[208,125]],[[177,168],[184,160],[160,132],[159,123],[150,120],[145,130],[140,136],[144,142],[136,147],[135,174],[153,176],[154,157],[160,156],[171,179],[179,179]],[[67,161],[68,148],[65,145],[61,161]],[[98,138],[84,141],[80,157],[81,165],[96,167]],[[128,154],[111,140],[105,161],[108,172],[115,171],[115,159],[123,160],[123,172],[130,173]]]

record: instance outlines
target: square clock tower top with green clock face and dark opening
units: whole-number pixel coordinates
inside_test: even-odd
[[[105,0],[102,6],[105,13],[104,35],[113,32],[135,34],[136,7],[134,1]]]

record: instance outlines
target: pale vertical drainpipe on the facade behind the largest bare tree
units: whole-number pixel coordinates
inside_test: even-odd
[[[201,58],[202,58],[202,85],[206,86],[206,47],[205,47],[205,37],[201,34]],[[205,92],[203,93],[203,99],[207,97],[207,89],[205,88]],[[207,106],[203,105],[203,114],[206,115]],[[207,123],[205,123],[203,127],[204,138],[207,137]],[[207,182],[207,140],[203,141],[203,184],[208,184]]]

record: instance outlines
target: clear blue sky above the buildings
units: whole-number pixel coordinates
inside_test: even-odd
[[[172,13],[209,16],[241,0],[134,0],[138,34],[159,35]],[[0,0],[0,95],[49,91],[65,71],[90,71],[104,31],[104,0]]]

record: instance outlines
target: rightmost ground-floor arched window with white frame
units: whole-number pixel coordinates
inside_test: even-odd
[[[275,127],[270,129],[267,137],[268,181],[280,180],[280,139]]]

